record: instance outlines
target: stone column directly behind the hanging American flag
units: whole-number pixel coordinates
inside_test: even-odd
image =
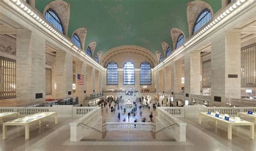
[[[84,103],[84,99],[86,98],[86,62],[76,61],[76,66],[76,94],[78,96],[79,103]],[[84,75],[84,85],[77,84],[78,74]]]

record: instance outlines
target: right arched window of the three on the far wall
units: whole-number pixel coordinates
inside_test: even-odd
[[[140,64],[140,85],[151,85],[151,65],[149,62]]]

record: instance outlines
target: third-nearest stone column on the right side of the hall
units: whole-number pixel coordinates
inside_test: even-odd
[[[171,63],[171,91],[175,93],[181,92],[181,76],[182,76],[181,61]]]

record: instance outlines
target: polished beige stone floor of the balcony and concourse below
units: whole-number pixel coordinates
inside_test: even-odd
[[[117,118],[118,112],[122,113],[120,121]],[[123,119],[141,121],[144,117],[150,120],[149,114],[156,114],[151,107],[150,110],[142,109],[142,117],[137,113],[136,117],[131,116],[129,119],[127,112],[123,114],[120,110],[106,113],[106,109],[103,109],[103,122],[124,122]],[[207,120],[199,125],[198,118],[181,118],[187,123],[187,142],[176,142],[172,138],[153,140],[150,132],[131,132],[130,135],[127,132],[113,132],[106,134],[104,140],[70,142],[69,123],[72,120],[75,118],[59,118],[59,123],[55,125],[51,118],[43,121],[39,127],[32,125],[29,140],[24,139],[24,127],[9,127],[8,139],[0,139],[0,150],[256,150],[256,140],[249,138],[247,127],[233,128],[233,139],[228,140],[225,126],[216,126]],[[0,128],[2,138],[2,126]],[[128,136],[130,142],[127,141]]]

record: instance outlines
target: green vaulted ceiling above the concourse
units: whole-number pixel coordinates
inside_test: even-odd
[[[50,0],[37,0],[36,8],[43,13]],[[161,42],[171,47],[171,28],[180,28],[188,37],[188,0],[69,0],[68,35],[86,27],[85,47],[96,41],[95,54],[111,48],[136,45],[163,54]],[[221,0],[205,1],[217,12]]]

